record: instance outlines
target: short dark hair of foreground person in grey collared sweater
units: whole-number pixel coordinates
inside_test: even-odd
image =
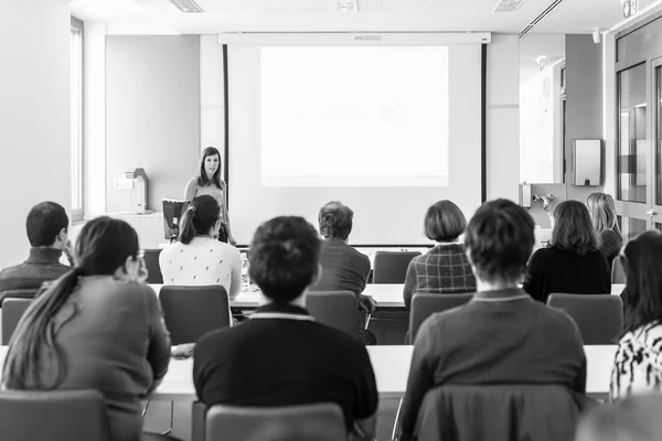
[[[533,251],[534,226],[531,215],[514,202],[485,202],[465,235],[476,276],[488,282],[520,280]]]

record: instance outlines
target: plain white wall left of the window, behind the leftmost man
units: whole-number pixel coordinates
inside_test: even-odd
[[[2,2],[0,267],[28,255],[25,215],[50,200],[71,209],[70,3]]]

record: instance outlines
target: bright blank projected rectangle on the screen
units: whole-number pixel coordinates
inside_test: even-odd
[[[261,173],[266,186],[447,186],[448,47],[264,47]]]

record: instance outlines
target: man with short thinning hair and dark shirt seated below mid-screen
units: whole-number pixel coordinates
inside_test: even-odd
[[[324,238],[320,250],[322,273],[311,291],[351,291],[356,295],[361,314],[360,338],[366,344],[376,344],[374,334],[365,329],[365,312],[373,313],[376,302],[363,295],[370,275],[370,259],[348,245],[352,233],[354,212],[340,202],[330,202],[319,213],[320,234]]]

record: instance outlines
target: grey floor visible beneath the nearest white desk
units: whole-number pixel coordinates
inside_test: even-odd
[[[387,399],[380,401],[377,415],[377,440],[388,441],[393,432],[393,421],[399,400]],[[145,416],[145,430],[161,433],[170,427],[170,402],[153,401]],[[174,404],[173,437],[182,441],[191,441],[191,405]]]

